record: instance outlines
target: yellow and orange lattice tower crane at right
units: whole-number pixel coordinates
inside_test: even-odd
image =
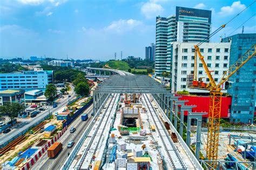
[[[219,126],[220,126],[220,111],[221,111],[221,85],[225,83],[238,69],[240,69],[245,63],[248,62],[252,57],[256,55],[256,44],[253,45],[249,50],[242,55],[237,62],[235,62],[229,69],[224,73],[219,84],[217,85],[211,75],[211,71],[208,69],[205,63],[204,56],[201,55],[198,45],[194,45],[195,48],[195,67],[197,62],[197,55],[203,64],[204,70],[207,77],[210,79],[210,84],[205,84],[203,81],[197,81],[197,69],[194,69],[193,83],[190,88],[201,89],[210,91],[210,106],[208,113],[208,133],[207,133],[207,150],[206,158],[208,160],[217,160],[218,158],[218,146],[219,146]],[[211,167],[215,168],[216,162],[212,162]]]

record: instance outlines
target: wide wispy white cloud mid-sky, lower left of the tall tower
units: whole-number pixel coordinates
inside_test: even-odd
[[[143,22],[135,19],[119,19],[119,21],[112,22],[109,26],[104,28],[105,31],[114,31],[117,33],[124,33],[143,25]]]

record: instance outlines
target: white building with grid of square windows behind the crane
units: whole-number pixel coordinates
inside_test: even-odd
[[[187,75],[194,72],[194,45],[195,43],[179,42],[173,42],[171,45],[171,89],[174,92],[183,90],[194,93],[207,92],[187,87]],[[199,46],[201,55],[204,56],[205,63],[208,69],[212,71],[211,74],[216,83],[220,81],[223,73],[228,69],[230,45],[230,43],[203,43]],[[203,78],[205,83],[210,83],[199,57],[197,59],[197,75],[197,78]]]

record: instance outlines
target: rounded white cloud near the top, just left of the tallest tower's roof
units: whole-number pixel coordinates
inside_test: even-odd
[[[146,18],[153,18],[163,13],[164,8],[156,2],[146,2],[142,5],[140,11]]]

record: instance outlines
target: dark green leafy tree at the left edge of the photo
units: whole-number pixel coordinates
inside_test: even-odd
[[[0,112],[3,115],[7,115],[12,120],[18,117],[18,113],[22,113],[25,111],[25,106],[18,103],[10,103],[6,102],[3,106],[0,106]]]

